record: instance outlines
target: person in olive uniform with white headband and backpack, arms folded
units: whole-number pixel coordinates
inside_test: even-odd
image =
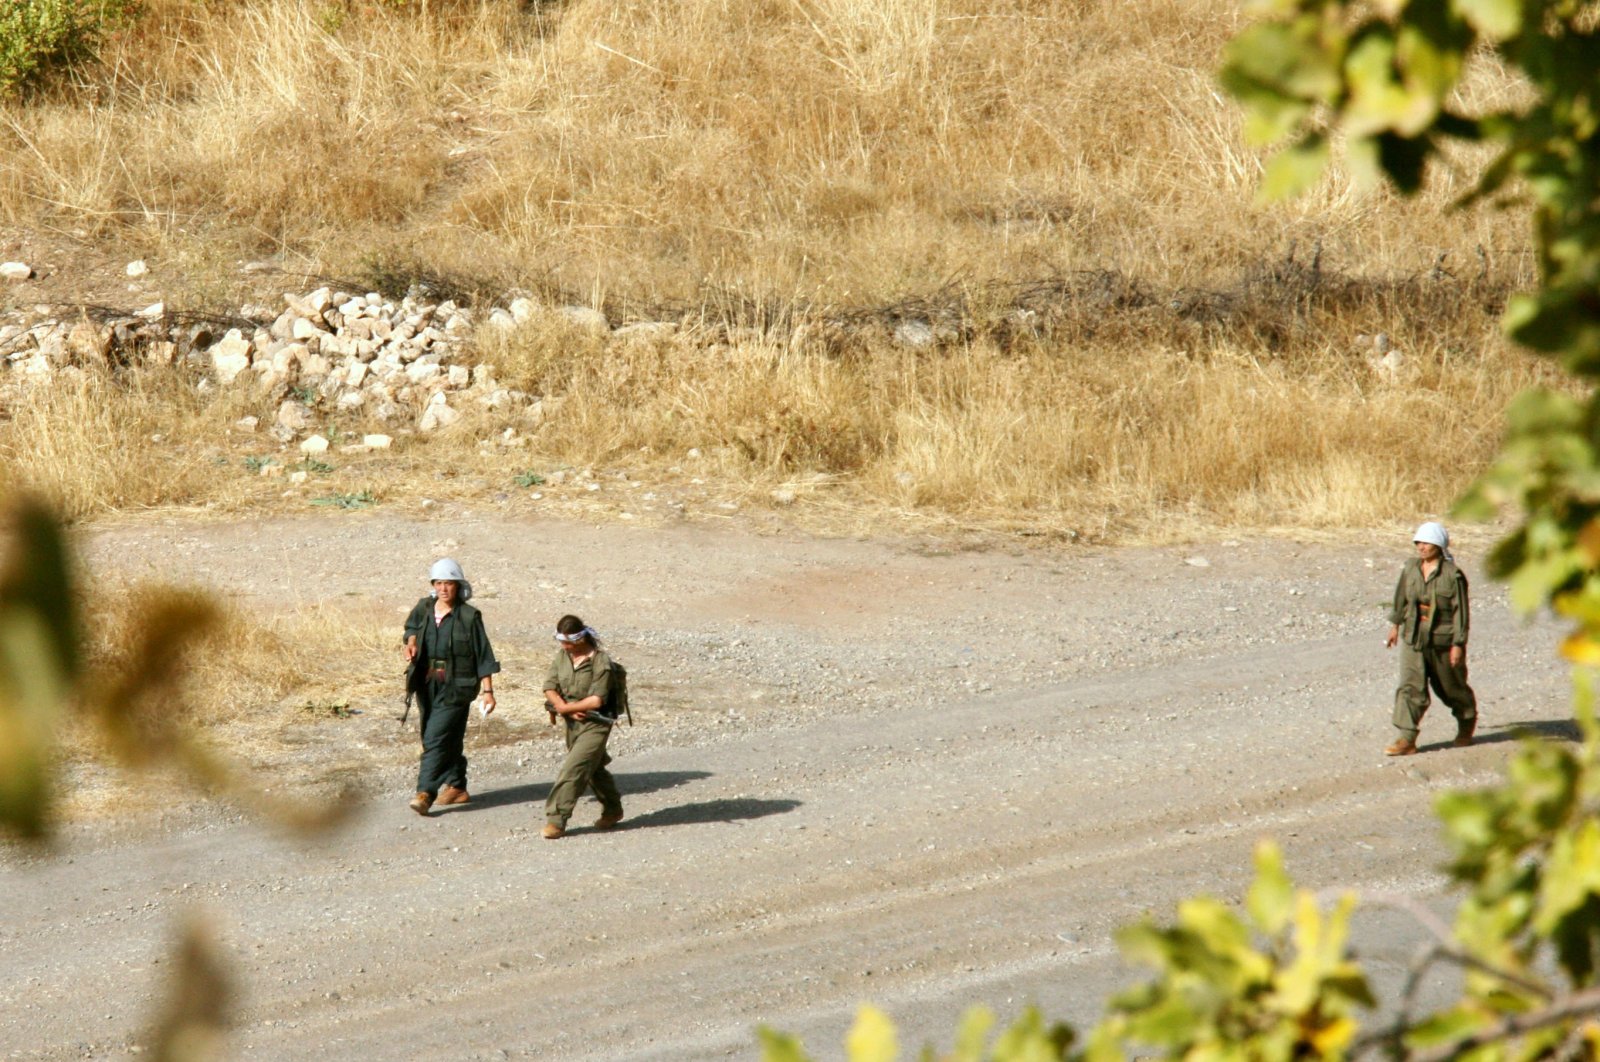
[[[610,830],[622,820],[622,795],[605,769],[611,755],[605,742],[616,725],[611,704],[611,657],[600,648],[600,637],[576,616],[562,616],[555,624],[560,649],[544,678],[544,699],[550,718],[562,717],[566,728],[566,760],[555,776],[550,796],[544,801],[544,838],[554,841],[566,835],[578,798],[594,789],[600,800],[597,830]]]

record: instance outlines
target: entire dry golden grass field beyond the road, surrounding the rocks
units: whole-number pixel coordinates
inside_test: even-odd
[[[1438,512],[1544,376],[1494,328],[1530,278],[1520,216],[1448,210],[1470,158],[1414,202],[1330,178],[1254,205],[1261,155],[1213,78],[1237,19],[147,0],[99,67],[0,109],[0,226],[146,258],[194,312],[426,277],[680,325],[621,342],[550,315],[485,341],[566,401],[338,469],[379,501],[626,465],[858,523],[1101,541]],[[240,273],[262,258],[286,275]],[[939,341],[896,342],[910,318]],[[1398,379],[1370,366],[1376,333]],[[304,504],[240,470],[246,413],[272,405],[171,373],[35,390],[0,417],[0,489],[78,515]],[[530,445],[486,445],[507,427]]]

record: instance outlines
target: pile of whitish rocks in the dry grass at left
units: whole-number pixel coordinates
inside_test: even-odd
[[[278,401],[272,425],[283,441],[306,432],[314,406],[358,413],[386,424],[414,422],[421,432],[448,427],[466,403],[491,409],[534,408],[538,398],[501,387],[493,366],[467,365],[472,310],[451,301],[318,288],[285,294],[283,309],[246,305],[250,326],[171,323],[165,305],[110,320],[45,317],[0,325],[0,358],[13,373],[48,379],[56,373],[138,360],[182,365],[203,389],[250,385]],[[526,299],[493,310],[493,326],[533,313]],[[587,312],[586,325],[606,326]],[[270,321],[270,323],[267,323]],[[221,333],[221,334],[218,334]]]

